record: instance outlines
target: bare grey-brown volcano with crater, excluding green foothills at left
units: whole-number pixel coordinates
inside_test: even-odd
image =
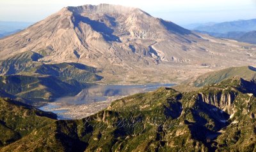
[[[67,7],[0,39],[0,60],[24,52],[36,62],[96,67],[107,83],[181,81],[230,66],[255,65],[255,45],[191,32],[138,8]]]

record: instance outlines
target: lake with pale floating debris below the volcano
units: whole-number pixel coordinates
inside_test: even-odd
[[[58,119],[79,119],[108,107],[113,100],[135,93],[150,92],[162,86],[170,87],[173,85],[175,84],[92,85],[75,96],[61,97],[39,109],[56,113]]]

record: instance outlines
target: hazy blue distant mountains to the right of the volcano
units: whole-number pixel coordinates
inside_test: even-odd
[[[235,39],[237,41],[256,44],[256,19],[237,20],[218,24],[193,25],[188,25],[187,27],[196,32],[209,34],[210,36],[214,36],[216,38]]]

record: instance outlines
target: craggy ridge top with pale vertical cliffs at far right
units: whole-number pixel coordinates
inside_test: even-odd
[[[239,114],[251,114],[253,99],[255,95],[255,81],[245,81],[241,78],[228,79],[227,83],[218,83],[214,86],[207,86],[199,90],[196,94],[197,102],[205,102],[221,110],[221,113],[227,113],[228,118],[223,121],[237,121]],[[212,109],[216,111],[217,109]],[[252,116],[251,116],[252,117]]]

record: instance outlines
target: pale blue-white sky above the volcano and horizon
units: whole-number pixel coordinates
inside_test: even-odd
[[[179,25],[256,18],[256,0],[0,0],[0,20],[37,22],[65,6],[121,4]]]

